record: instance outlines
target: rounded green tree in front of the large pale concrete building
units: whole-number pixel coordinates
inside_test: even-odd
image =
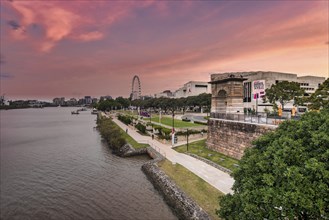
[[[279,101],[282,109],[284,109],[285,104],[293,100],[294,105],[298,97],[304,95],[304,89],[300,88],[297,82],[282,81],[277,84],[273,84],[271,88],[265,90],[265,100],[269,100],[270,103],[275,105],[276,101]]]

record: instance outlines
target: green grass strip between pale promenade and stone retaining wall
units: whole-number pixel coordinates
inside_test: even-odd
[[[238,164],[239,160],[225,156],[224,154],[218,153],[216,151],[209,150],[205,146],[206,146],[206,140],[190,143],[188,145],[188,152],[206,158],[208,160],[211,160],[212,162],[217,163],[223,167],[226,167],[227,169],[234,170],[236,168],[236,165],[234,164]],[[185,153],[186,145],[175,147],[173,149],[176,150],[177,152]]]

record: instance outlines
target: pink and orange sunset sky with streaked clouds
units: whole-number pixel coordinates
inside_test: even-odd
[[[329,1],[2,1],[1,95],[128,97],[211,73],[328,77]]]

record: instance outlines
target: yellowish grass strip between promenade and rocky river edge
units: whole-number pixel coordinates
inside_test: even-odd
[[[163,170],[187,195],[198,203],[212,219],[219,219],[216,209],[219,208],[218,197],[223,193],[196,176],[180,164],[173,165],[170,161],[159,162]]]

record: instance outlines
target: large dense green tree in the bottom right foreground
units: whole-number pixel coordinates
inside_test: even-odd
[[[233,172],[225,219],[329,218],[329,110],[286,121],[254,141]]]

